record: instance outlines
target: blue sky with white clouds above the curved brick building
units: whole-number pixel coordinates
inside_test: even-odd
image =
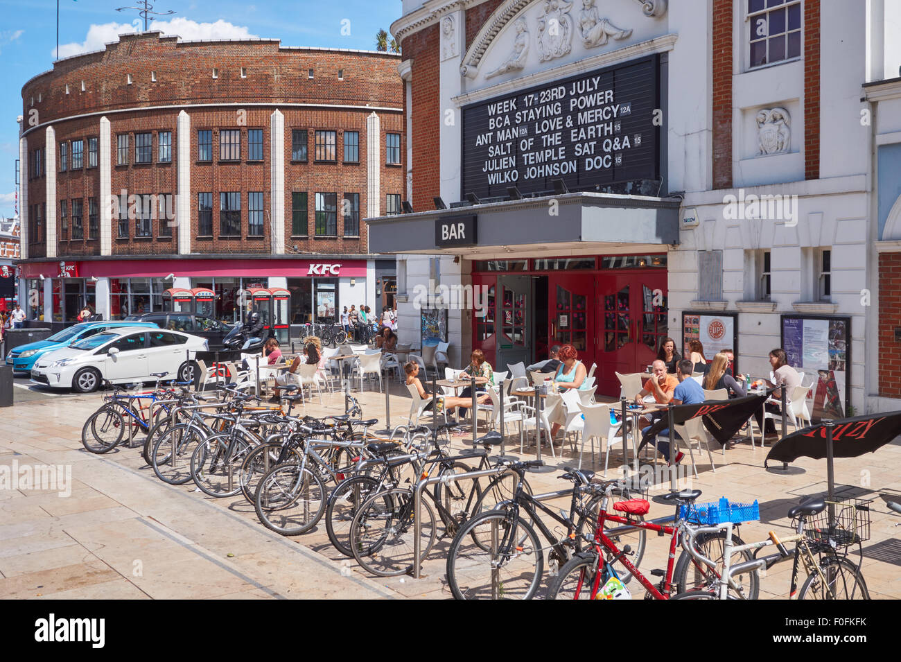
[[[137,11],[116,12],[126,0],[59,0],[59,52],[63,57],[103,48],[114,35],[134,32]],[[400,0],[157,0],[163,32],[184,39],[268,37],[285,46],[375,49],[375,34],[401,14]],[[0,215],[14,212],[15,159],[19,156],[17,115],[22,86],[53,68],[56,50],[56,0],[0,0]],[[350,21],[350,34],[341,22]],[[158,26],[159,27],[159,26]],[[150,24],[150,29],[154,25]],[[346,30],[344,32],[347,32]]]

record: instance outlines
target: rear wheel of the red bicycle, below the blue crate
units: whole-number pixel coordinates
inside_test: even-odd
[[[674,592],[687,593],[698,590],[715,590],[719,577],[723,573],[724,567],[724,544],[726,532],[719,531],[717,533],[702,533],[696,538],[697,549],[700,550],[706,558],[714,561],[716,564],[715,571],[709,567],[702,567],[688,552],[683,549],[676,561],[676,569],[673,571]],[[743,545],[742,538],[733,531],[733,545]],[[734,566],[743,561],[751,561],[753,556],[750,551],[743,551],[741,554],[733,552],[729,561],[730,566]],[[754,570],[750,573],[743,573],[733,577],[735,584],[741,589],[740,592],[730,586],[729,594],[740,600],[757,600],[760,594],[760,572]]]

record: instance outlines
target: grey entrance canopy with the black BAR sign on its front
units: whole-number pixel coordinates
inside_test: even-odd
[[[374,253],[470,259],[660,251],[678,243],[680,201],[571,193],[370,218]]]

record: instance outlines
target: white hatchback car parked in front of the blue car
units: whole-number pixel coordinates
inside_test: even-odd
[[[48,352],[32,367],[32,382],[90,393],[104,380],[114,384],[154,381],[152,373],[189,381],[194,363],[186,352],[207,349],[205,338],[188,333],[124,326]]]

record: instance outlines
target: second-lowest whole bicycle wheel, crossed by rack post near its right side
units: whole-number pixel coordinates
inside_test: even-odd
[[[435,513],[423,500],[420,561],[435,542]],[[404,575],[414,564],[414,507],[410,490],[371,494],[350,524],[350,549],[360,567],[375,576]]]

